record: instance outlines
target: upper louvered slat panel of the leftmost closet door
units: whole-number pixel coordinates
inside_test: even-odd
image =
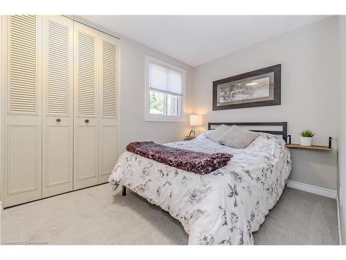
[[[11,15],[8,114],[37,115],[39,17]]]

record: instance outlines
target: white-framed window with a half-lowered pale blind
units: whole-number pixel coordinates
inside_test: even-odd
[[[145,57],[145,121],[184,121],[185,71]]]

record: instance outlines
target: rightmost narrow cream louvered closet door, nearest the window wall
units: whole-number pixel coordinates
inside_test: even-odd
[[[118,160],[118,39],[100,33],[99,183],[108,182]]]

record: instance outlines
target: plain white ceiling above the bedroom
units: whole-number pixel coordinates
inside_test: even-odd
[[[322,15],[78,15],[193,67],[324,19]]]

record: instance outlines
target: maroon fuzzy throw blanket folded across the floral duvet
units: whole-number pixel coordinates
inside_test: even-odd
[[[209,154],[172,148],[155,144],[153,141],[135,141],[128,144],[126,150],[156,162],[201,175],[226,166],[230,158],[233,157],[228,153]]]

